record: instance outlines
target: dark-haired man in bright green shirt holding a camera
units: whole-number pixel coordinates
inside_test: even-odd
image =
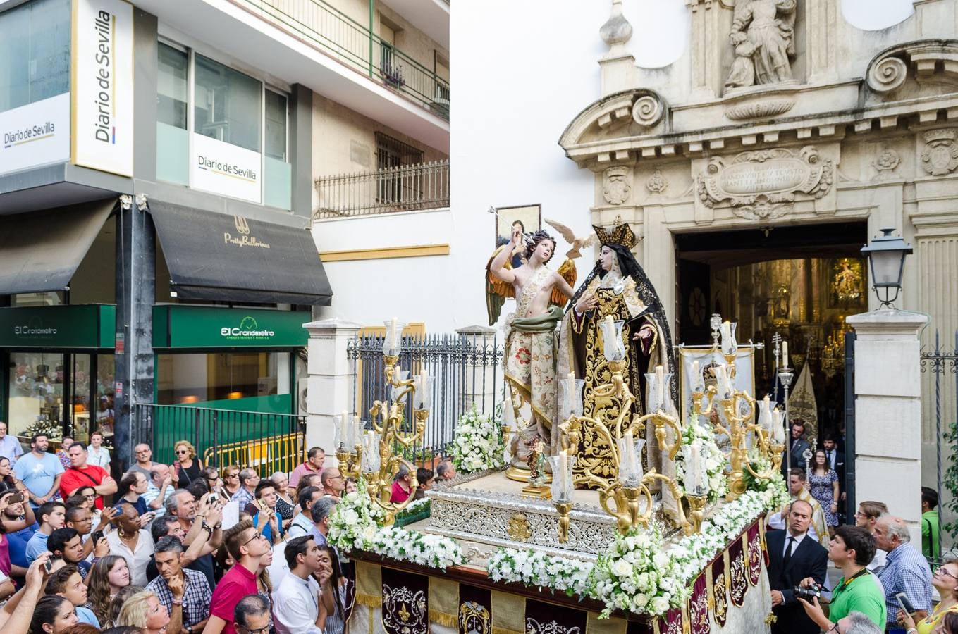
[[[887,609],[885,608],[885,594],[881,584],[872,575],[866,566],[875,556],[875,537],[871,532],[857,526],[839,526],[835,529],[835,536],[829,544],[829,559],[835,568],[841,571],[832,591],[832,604],[829,616],[825,616],[818,598],[812,600],[798,598],[805,608],[805,613],[823,630],[828,631],[833,623],[850,612],[861,612],[878,625],[885,628]],[[802,579],[802,587],[812,586],[814,579]]]

